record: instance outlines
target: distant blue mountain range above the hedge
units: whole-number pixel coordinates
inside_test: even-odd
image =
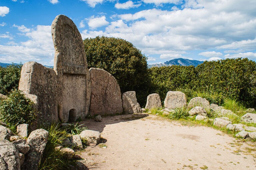
[[[172,60],[166,61],[164,63],[160,63],[160,64],[148,64],[148,68],[171,66],[171,65],[181,65],[181,66],[194,65],[196,67],[198,64],[202,64],[202,63],[203,63],[203,61],[189,60],[189,59],[185,59],[185,58],[176,58],[176,59],[172,59]]]

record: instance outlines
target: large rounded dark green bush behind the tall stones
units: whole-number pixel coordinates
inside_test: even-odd
[[[101,68],[112,74],[121,92],[136,91],[142,105],[147,98],[146,56],[132,43],[120,38],[96,37],[84,40],[88,67]]]

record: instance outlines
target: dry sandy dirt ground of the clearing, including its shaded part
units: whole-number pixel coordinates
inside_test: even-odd
[[[256,143],[209,127],[181,125],[147,115],[86,119],[101,144],[79,155],[92,170],[256,170]]]

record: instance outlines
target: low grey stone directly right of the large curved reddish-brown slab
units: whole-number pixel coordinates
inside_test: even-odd
[[[125,114],[141,113],[140,104],[137,102],[136,92],[129,91],[122,94],[123,112]]]

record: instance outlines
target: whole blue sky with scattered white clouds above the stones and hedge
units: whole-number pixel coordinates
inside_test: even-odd
[[[82,38],[125,39],[148,63],[174,58],[256,61],[255,0],[1,0],[0,62],[53,65],[51,23],[64,14]]]

